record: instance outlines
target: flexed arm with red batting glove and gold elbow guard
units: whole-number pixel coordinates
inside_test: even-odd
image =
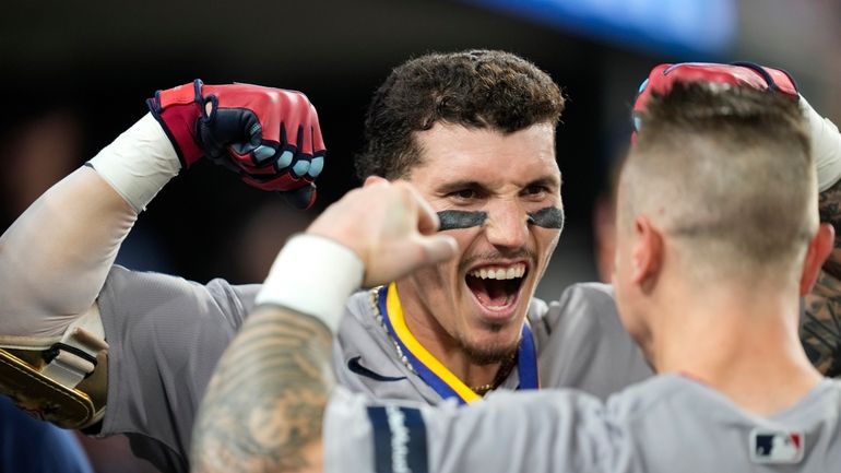
[[[196,81],[149,106],[0,237],[0,393],[63,427],[103,416],[108,334],[94,301],[138,214],[171,177],[208,157],[298,206],[316,197],[324,144],[304,94]]]

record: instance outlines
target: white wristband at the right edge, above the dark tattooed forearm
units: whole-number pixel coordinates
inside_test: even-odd
[[[808,122],[812,157],[818,169],[818,190],[822,192],[841,179],[841,133],[832,121],[821,117],[802,96],[801,108]]]

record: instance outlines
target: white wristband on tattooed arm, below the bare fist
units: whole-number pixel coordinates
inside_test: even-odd
[[[299,234],[274,260],[256,304],[276,304],[308,314],[335,333],[347,298],[363,282],[365,267],[336,241]]]

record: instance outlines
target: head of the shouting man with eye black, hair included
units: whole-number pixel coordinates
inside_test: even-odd
[[[448,230],[457,258],[399,282],[407,323],[434,353],[484,364],[517,348],[560,233],[529,213],[560,213],[562,108],[545,72],[501,51],[413,59],[377,91],[359,175],[406,180],[439,212],[484,215]]]

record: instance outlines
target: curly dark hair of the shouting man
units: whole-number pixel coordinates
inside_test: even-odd
[[[395,68],[374,94],[356,173],[360,179],[405,176],[422,159],[413,133],[438,121],[512,133],[557,126],[561,111],[564,97],[552,78],[510,52],[422,56]]]

